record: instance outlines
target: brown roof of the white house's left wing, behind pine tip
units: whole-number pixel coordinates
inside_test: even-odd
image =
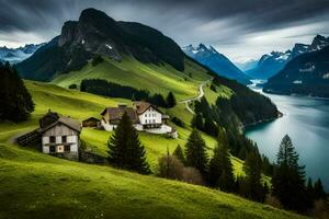
[[[111,124],[118,124],[124,113],[127,113],[133,124],[138,124],[139,118],[133,107],[106,107],[101,115],[109,114]]]

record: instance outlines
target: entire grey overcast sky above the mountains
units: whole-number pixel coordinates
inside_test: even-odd
[[[42,43],[95,8],[156,27],[179,45],[213,45],[234,61],[329,35],[329,0],[0,0],[0,46]]]

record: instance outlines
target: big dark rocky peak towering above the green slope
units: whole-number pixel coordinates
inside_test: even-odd
[[[57,74],[82,69],[95,56],[116,61],[133,56],[140,62],[169,64],[184,70],[184,54],[171,38],[139,23],[114,21],[95,9],[83,10],[79,21],[66,22],[61,34],[42,47],[38,56],[19,64],[18,70],[23,78],[50,81]]]

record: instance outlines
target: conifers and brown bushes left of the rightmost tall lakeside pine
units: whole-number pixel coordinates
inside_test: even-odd
[[[159,159],[159,176],[184,181],[193,184],[206,185],[212,188],[236,193],[253,200],[263,201],[269,191],[261,181],[261,157],[254,150],[248,154],[245,162],[246,176],[235,177],[228,141],[225,129],[219,129],[217,146],[213,157],[201,134],[194,129],[185,145],[180,146],[170,155]],[[193,177],[185,177],[186,169],[193,170]]]

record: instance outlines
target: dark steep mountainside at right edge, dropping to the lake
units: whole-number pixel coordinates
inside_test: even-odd
[[[329,46],[290,61],[269,79],[263,91],[329,97]]]

